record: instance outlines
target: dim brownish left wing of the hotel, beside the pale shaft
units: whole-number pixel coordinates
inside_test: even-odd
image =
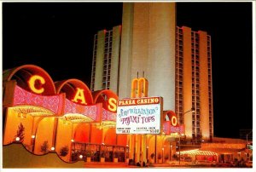
[[[90,90],[111,89],[118,93],[120,36],[121,26],[95,35]]]

